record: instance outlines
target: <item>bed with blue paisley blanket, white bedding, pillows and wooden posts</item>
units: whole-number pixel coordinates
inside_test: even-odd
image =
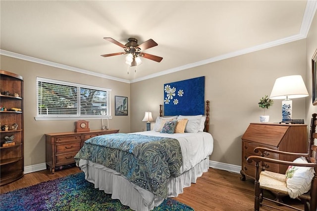
[[[87,181],[112,194],[112,199],[135,211],[153,210],[165,198],[183,193],[209,169],[213,138],[208,133],[209,101],[206,103],[205,116],[163,117],[160,106],[151,131],[93,137],[75,156],[76,164]],[[180,122],[185,122],[186,129],[174,133]],[[197,132],[188,128],[193,123],[199,124]],[[166,128],[169,133],[162,133]]]

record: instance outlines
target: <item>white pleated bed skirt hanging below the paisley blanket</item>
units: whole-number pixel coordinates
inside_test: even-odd
[[[112,199],[119,199],[123,205],[134,211],[150,211],[158,207],[163,198],[131,183],[118,172],[89,160],[80,159],[79,167],[85,173],[85,179],[95,184],[95,188],[112,194]],[[177,197],[183,193],[183,188],[196,183],[196,179],[209,169],[209,157],[202,160],[178,177],[168,179],[168,196]]]

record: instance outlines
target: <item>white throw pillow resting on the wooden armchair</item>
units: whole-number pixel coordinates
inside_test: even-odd
[[[293,162],[308,163],[304,157],[296,158]],[[285,177],[288,195],[295,199],[311,189],[314,168],[290,165],[286,170]]]

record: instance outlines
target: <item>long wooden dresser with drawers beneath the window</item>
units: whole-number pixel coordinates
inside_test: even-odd
[[[74,163],[74,156],[82,148],[87,139],[118,132],[118,129],[109,129],[45,134],[47,169],[50,168],[53,174],[55,167]]]

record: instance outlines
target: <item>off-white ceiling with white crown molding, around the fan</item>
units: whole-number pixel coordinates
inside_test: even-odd
[[[0,53],[123,82],[306,38],[316,0],[0,1]],[[129,67],[106,40],[159,45]],[[129,74],[127,71],[129,70]]]

